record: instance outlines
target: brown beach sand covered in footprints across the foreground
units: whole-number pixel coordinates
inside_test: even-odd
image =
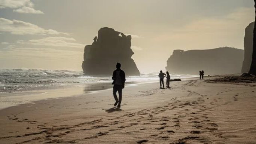
[[[171,87],[128,86],[120,109],[111,89],[6,108],[0,144],[256,144],[255,86],[188,80]]]

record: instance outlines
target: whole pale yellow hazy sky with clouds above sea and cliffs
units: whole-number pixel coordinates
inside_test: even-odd
[[[165,70],[175,49],[244,49],[254,19],[253,0],[0,0],[0,68],[82,70],[110,27],[132,34],[141,72]]]

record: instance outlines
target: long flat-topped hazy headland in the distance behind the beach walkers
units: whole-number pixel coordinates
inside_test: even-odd
[[[200,70],[208,74],[240,73],[244,50],[216,48],[208,50],[174,50],[167,60],[166,70],[175,74],[199,75]]]

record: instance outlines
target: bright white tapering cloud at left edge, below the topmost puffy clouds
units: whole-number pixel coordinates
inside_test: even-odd
[[[58,35],[58,34],[65,34],[58,32],[56,30],[46,30],[44,28],[41,28],[37,25],[31,24],[29,22],[24,21],[18,21],[18,20],[9,20],[5,18],[0,18],[0,31],[2,32],[10,32],[11,34],[17,34],[17,35],[33,35],[33,34],[39,34],[39,35]]]

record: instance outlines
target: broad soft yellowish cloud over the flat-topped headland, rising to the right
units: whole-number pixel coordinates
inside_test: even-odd
[[[255,20],[251,8],[241,7],[221,17],[202,17],[159,34],[155,43],[170,43],[175,49],[243,48],[244,30]]]

